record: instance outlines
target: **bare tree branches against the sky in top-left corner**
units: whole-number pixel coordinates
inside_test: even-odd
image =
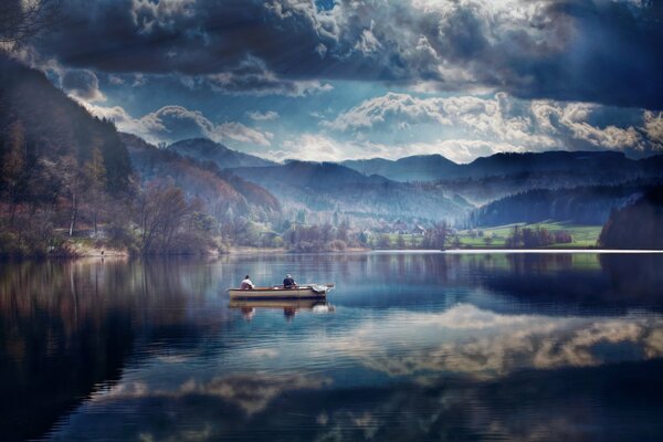
[[[0,48],[14,49],[52,28],[61,3],[61,0],[0,1]]]

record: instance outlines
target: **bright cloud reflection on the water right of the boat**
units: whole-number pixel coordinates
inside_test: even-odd
[[[490,379],[518,369],[662,357],[663,318],[504,315],[462,304],[440,314],[393,313],[379,324],[360,324],[329,347],[389,376]]]

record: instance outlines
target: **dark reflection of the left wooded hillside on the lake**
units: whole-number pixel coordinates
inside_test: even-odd
[[[2,265],[3,438],[43,434],[95,385],[119,378],[137,338],[149,343],[179,329],[190,299],[183,276],[168,263]],[[197,288],[206,284],[203,275],[186,276]],[[200,330],[188,327],[186,333],[190,343]]]

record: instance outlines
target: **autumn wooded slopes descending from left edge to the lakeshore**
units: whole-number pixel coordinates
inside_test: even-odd
[[[0,59],[0,257],[206,253],[281,213],[260,186],[118,134],[9,59]]]

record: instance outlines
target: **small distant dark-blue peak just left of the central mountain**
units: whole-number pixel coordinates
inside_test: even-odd
[[[168,146],[169,150],[201,161],[213,161],[220,169],[274,166],[273,161],[229,149],[208,138],[182,139]]]

